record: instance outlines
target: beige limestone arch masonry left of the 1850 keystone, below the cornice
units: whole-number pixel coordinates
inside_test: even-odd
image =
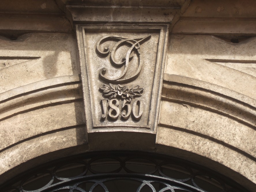
[[[63,156],[78,153],[72,147],[86,151],[87,136],[75,35],[27,33],[16,40],[1,37],[0,42],[4,182],[31,165],[61,157],[61,150],[66,151]],[[55,151],[60,152],[34,160]]]

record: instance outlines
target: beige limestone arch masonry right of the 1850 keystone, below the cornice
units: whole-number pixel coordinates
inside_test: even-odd
[[[256,183],[255,37],[231,43],[212,35],[173,34],[165,67],[158,152],[245,180],[255,191],[255,184],[247,184]]]

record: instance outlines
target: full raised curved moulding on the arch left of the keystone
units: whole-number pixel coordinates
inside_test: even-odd
[[[78,75],[34,82],[0,94],[0,122],[24,112],[81,99]]]

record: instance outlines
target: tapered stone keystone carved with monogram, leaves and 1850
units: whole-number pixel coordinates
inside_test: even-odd
[[[168,25],[77,25],[88,132],[155,132]]]

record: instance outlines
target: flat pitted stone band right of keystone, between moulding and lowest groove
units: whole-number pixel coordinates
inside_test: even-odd
[[[255,129],[226,117],[183,103],[162,101],[161,125],[202,135],[243,155],[256,159]]]

